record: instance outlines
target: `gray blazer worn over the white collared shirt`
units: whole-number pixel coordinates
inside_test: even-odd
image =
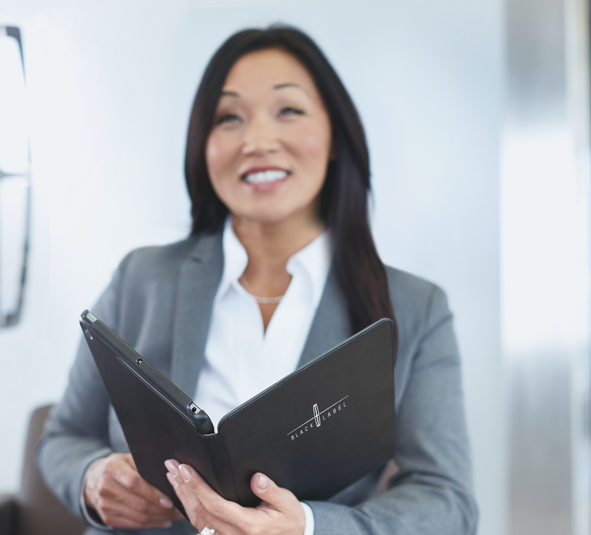
[[[138,249],[122,260],[92,310],[191,395],[203,364],[222,269],[221,233]],[[437,286],[391,267],[387,275],[399,332],[394,374],[397,442],[392,452],[399,469],[388,478],[384,468],[378,469],[328,501],[310,501],[315,534],[473,534],[478,513],[452,314]],[[330,273],[300,365],[348,338],[350,331],[345,302]],[[41,473],[80,515],[86,468],[111,452],[127,451],[83,341],[38,450]],[[183,520],[167,533],[196,530]]]

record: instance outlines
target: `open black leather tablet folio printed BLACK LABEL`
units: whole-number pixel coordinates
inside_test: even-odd
[[[88,311],[80,325],[139,474],[184,513],[166,459],[226,500],[255,506],[256,472],[326,500],[394,456],[393,324],[381,319],[236,407],[202,435],[189,396]],[[209,419],[207,419],[209,420]]]

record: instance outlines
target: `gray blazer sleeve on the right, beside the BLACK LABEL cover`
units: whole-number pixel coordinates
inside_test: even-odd
[[[389,490],[348,507],[307,502],[315,535],[472,535],[472,495],[460,358],[446,296],[432,286],[427,312],[397,410]]]

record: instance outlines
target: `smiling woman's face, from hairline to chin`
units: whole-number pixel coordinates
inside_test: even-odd
[[[331,151],[329,115],[291,54],[246,54],[228,73],[207,139],[209,176],[234,216],[280,223],[317,218]]]

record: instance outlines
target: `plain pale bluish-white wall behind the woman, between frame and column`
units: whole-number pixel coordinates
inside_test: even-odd
[[[18,487],[28,413],[64,389],[80,311],[129,249],[187,232],[184,136],[207,59],[231,32],[282,21],[317,40],[361,112],[383,259],[449,295],[480,533],[502,535],[501,0],[224,4],[0,4],[23,33],[34,172],[27,306],[0,332],[0,491]]]

